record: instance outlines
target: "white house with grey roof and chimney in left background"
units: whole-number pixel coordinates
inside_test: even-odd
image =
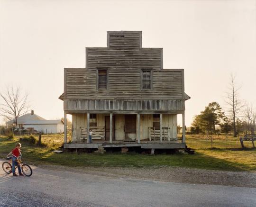
[[[21,129],[34,129],[38,132],[43,132],[46,134],[52,133],[64,133],[64,122],[61,119],[57,120],[46,120],[34,114],[32,110],[31,113],[25,114],[17,118],[18,128]],[[6,122],[7,126],[15,125],[15,119]]]

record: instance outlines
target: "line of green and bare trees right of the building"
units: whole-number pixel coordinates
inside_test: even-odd
[[[231,131],[236,137],[242,132],[254,135],[256,125],[256,110],[252,105],[239,98],[239,89],[235,77],[230,75],[230,84],[225,97],[226,109],[223,110],[219,103],[213,101],[205,107],[199,115],[194,116],[191,133],[225,133]],[[216,127],[218,129],[216,129]]]

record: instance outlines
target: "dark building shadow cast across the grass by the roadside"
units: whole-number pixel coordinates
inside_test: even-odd
[[[121,154],[121,153],[60,153],[56,154],[50,151],[37,153],[35,150],[31,161],[44,161],[51,164],[79,166],[79,167],[124,167],[124,168],[159,168],[166,166],[199,168],[209,170],[223,171],[250,171],[246,164],[229,162],[225,159],[219,159],[204,153],[194,155],[188,154],[172,154],[172,155],[145,155],[145,154]]]

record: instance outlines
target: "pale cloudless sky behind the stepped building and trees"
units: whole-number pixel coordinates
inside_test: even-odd
[[[63,117],[64,67],[84,68],[111,30],[141,30],[165,69],[184,68],[187,126],[209,102],[225,107],[231,72],[256,107],[256,0],[0,0],[0,91],[17,85],[37,115]]]

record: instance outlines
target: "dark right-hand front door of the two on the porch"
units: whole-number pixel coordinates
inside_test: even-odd
[[[125,115],[125,139],[136,140],[136,114]]]

